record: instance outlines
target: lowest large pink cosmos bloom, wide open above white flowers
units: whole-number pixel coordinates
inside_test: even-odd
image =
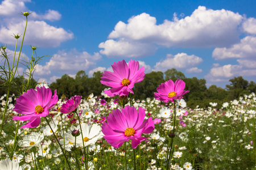
[[[139,107],[138,111],[135,107],[126,106],[113,110],[107,117],[108,124],[102,125],[102,133],[104,138],[113,147],[118,148],[123,142],[131,139],[131,147],[136,148],[141,141],[147,139],[142,137],[142,133],[149,134],[154,128],[152,117],[144,121],[145,110]],[[144,121],[144,122],[143,122]]]

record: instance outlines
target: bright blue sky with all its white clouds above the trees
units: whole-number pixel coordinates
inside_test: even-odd
[[[0,43],[13,53],[13,33],[28,28],[38,56],[34,78],[110,70],[135,59],[145,72],[175,68],[225,88],[234,76],[256,80],[256,1],[30,1],[0,3]],[[21,40],[20,40],[21,41]],[[19,65],[19,73],[24,70]]]

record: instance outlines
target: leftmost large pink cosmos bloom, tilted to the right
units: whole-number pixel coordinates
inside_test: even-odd
[[[52,108],[58,101],[57,91],[55,90],[52,96],[50,88],[36,87],[36,90],[31,88],[23,95],[16,99],[14,111],[24,116],[14,116],[13,120],[28,121],[28,123],[20,128],[35,128],[39,126],[41,118],[49,114],[49,109]]]

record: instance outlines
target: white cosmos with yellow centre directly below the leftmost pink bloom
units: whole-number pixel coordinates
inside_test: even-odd
[[[26,135],[23,138],[20,147],[26,147],[27,149],[30,149],[31,147],[38,146],[43,141],[43,139],[43,134],[39,134],[33,131],[30,135]]]

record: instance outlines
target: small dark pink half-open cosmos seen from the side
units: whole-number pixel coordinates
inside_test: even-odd
[[[71,113],[75,111],[75,109],[81,103],[82,96],[73,96],[66,103],[61,105],[60,112],[61,113]]]

